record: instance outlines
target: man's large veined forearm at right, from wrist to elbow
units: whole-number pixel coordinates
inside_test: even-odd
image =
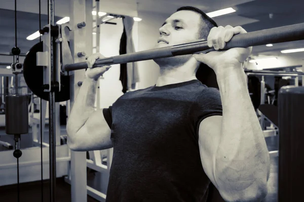
[[[222,131],[216,153],[217,183],[234,190],[264,186],[269,153],[254,111],[242,67],[217,75],[222,102]],[[224,178],[222,178],[224,177]]]

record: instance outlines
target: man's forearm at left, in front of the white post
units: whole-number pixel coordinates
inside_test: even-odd
[[[83,81],[67,120],[69,135],[76,134],[94,112],[96,87],[96,80],[85,78]]]

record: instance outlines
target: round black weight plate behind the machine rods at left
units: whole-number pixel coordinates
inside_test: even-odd
[[[23,62],[23,76],[28,88],[38,97],[48,101],[49,92],[44,92],[43,89],[43,67],[36,66],[37,52],[43,52],[43,42],[36,43],[30,48]],[[55,102],[63,102],[70,98],[69,76],[62,74],[60,76],[60,82],[61,91],[55,92]]]

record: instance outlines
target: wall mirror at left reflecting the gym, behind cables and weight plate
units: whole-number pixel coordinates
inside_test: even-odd
[[[43,12],[44,13],[44,12]],[[19,63],[23,64],[26,54],[29,49],[40,41],[39,33],[39,13],[29,13],[17,11],[17,47],[20,48]],[[61,17],[55,16],[57,22]],[[7,135],[5,130],[6,105],[5,96],[15,94],[15,75],[12,73],[11,65],[14,62],[12,48],[16,46],[15,41],[15,11],[8,9],[0,9],[0,151],[14,150],[15,141],[14,135]],[[48,23],[48,16],[41,15],[41,27]],[[36,33],[36,34],[34,34]],[[39,76],[39,75],[37,75]],[[33,95],[28,89],[24,81],[23,74],[18,75],[18,94],[28,95],[28,110],[29,110],[29,133],[22,134],[20,140],[20,149],[40,146],[40,125],[41,125],[41,101],[39,97]],[[43,102],[44,103],[44,102]],[[43,104],[43,122],[45,127],[43,132],[43,145],[48,146],[49,130],[48,130],[48,104]],[[58,132],[56,135],[56,144],[66,144],[66,102],[56,104]],[[44,124],[43,124],[44,125]]]

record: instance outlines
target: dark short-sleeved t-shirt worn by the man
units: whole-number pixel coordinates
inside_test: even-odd
[[[151,86],[125,93],[103,114],[113,143],[106,201],[207,201],[198,130],[222,115],[218,89],[199,80]]]

